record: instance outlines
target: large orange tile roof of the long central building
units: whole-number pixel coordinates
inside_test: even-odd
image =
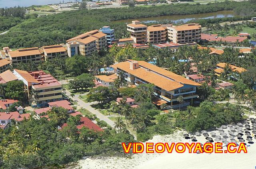
[[[116,68],[122,69],[123,71],[131,73],[132,75],[140,79],[143,79],[148,83],[151,83],[160,88],[163,88],[166,91],[171,91],[171,90],[180,88],[184,86],[183,84],[201,86],[199,83],[196,83],[194,81],[181,77],[180,75],[176,75],[175,73],[166,71],[160,67],[151,65],[150,63],[147,63],[145,61],[138,61],[138,63],[140,67],[134,70],[130,69],[129,61],[117,63],[115,65],[112,65],[111,67],[113,67],[114,69]],[[145,67],[146,69],[143,67]],[[151,71],[148,71],[147,69]],[[154,73],[153,71],[157,73]],[[162,76],[159,75],[158,73],[161,74]],[[164,76],[169,77],[170,79]],[[171,79],[173,79],[173,81]]]

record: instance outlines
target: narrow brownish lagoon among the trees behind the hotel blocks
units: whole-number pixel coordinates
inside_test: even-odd
[[[131,23],[132,20],[139,20],[144,23],[152,22],[166,22],[166,23],[177,23],[177,22],[188,22],[194,19],[213,19],[213,18],[226,18],[237,16],[233,11],[219,11],[219,12],[210,12],[205,14],[192,14],[192,15],[172,15],[172,16],[158,16],[150,18],[137,18],[129,20],[119,20],[114,22],[124,22]]]

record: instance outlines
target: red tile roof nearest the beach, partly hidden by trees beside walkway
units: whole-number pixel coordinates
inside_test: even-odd
[[[68,124],[64,123],[62,126],[61,126],[61,129],[68,126]],[[102,132],[103,129],[100,128],[97,124],[95,124],[94,122],[92,122],[89,118],[87,117],[80,117],[80,124],[76,126],[76,128],[78,128],[79,130],[82,128],[82,127],[86,127],[86,128],[89,128],[91,130],[94,130],[96,132]],[[60,129],[60,130],[61,130]]]

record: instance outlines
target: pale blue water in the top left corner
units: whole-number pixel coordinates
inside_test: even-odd
[[[70,2],[70,1],[72,0],[64,0],[64,2]],[[63,0],[0,0],[0,8],[13,7],[13,6],[58,4],[60,2],[63,2]]]

